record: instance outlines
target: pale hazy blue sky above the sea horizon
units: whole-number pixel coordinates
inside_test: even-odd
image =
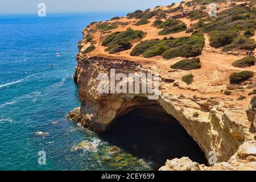
[[[38,4],[46,3],[47,13],[90,11],[130,11],[170,5],[181,0],[0,0],[0,14],[37,13]]]

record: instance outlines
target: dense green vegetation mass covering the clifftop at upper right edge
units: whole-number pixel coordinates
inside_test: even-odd
[[[221,11],[217,18],[204,24],[201,30],[209,33],[210,46],[223,47],[223,51],[233,49],[254,50],[254,35],[256,9],[241,4]]]

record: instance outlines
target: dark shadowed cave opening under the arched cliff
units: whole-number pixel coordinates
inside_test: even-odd
[[[102,137],[151,163],[156,170],[164,166],[167,159],[184,156],[193,162],[207,164],[195,140],[161,106],[139,107],[122,115]]]

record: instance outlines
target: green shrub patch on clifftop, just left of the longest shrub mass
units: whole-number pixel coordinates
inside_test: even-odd
[[[132,30],[127,28],[123,32],[114,32],[110,34],[102,43],[102,46],[106,46],[106,51],[109,53],[116,53],[125,51],[131,48],[131,41],[136,41],[144,37],[143,31]]]

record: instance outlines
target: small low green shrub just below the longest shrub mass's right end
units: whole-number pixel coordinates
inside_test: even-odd
[[[201,68],[200,59],[184,59],[171,66],[172,69],[192,70]]]

